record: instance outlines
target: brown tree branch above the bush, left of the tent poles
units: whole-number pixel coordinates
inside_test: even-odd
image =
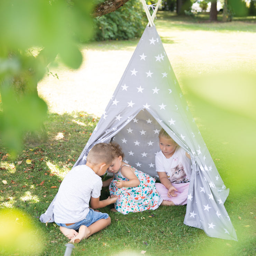
[[[123,6],[129,0],[107,0],[104,3],[98,4],[92,13],[93,17],[100,17],[107,13],[113,12]]]

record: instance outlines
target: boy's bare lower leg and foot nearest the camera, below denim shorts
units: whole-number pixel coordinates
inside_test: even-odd
[[[110,223],[111,219],[110,217],[108,217],[107,219],[97,220],[96,222],[92,223],[92,225],[90,225],[89,227],[82,225],[79,228],[78,235],[73,237],[70,240],[70,243],[79,243],[81,240],[86,239],[92,234],[97,233],[100,230],[106,228],[107,226],[110,225]]]

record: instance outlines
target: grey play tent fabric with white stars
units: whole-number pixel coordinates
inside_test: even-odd
[[[189,111],[161,39],[146,27],[108,106],[75,165],[86,163],[97,143],[116,141],[124,161],[153,177],[161,128],[186,150],[192,160],[184,224],[203,229],[210,237],[237,241],[224,207],[229,189],[224,185]],[[54,221],[54,200],[42,222]],[[51,220],[50,220],[51,219]]]

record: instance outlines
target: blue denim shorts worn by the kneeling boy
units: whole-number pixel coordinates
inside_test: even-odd
[[[92,209],[89,209],[89,212],[88,212],[87,216],[85,217],[85,219],[80,220],[80,221],[74,223],[73,225],[66,226],[66,224],[64,224],[64,223],[57,223],[57,222],[55,222],[55,223],[61,227],[78,230],[82,225],[89,227],[90,225],[92,225],[92,223],[96,222],[97,220],[107,219],[108,217],[109,217],[108,213],[97,212]]]

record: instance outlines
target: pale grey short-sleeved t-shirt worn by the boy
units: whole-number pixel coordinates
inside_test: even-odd
[[[75,223],[89,212],[91,196],[98,198],[102,188],[101,177],[87,165],[77,165],[64,177],[54,204],[54,221]]]

